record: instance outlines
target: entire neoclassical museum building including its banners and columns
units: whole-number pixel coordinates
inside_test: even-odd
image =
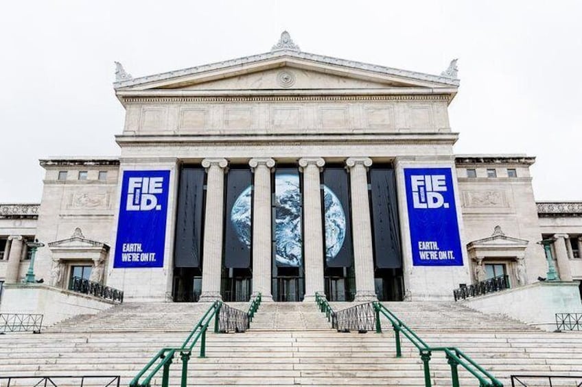
[[[526,155],[455,155],[441,75],[267,53],[133,78],[113,158],[51,158],[0,205],[0,283],[74,277],[146,301],[452,299],[582,280],[582,203],[536,203]],[[538,242],[550,241],[548,253]]]

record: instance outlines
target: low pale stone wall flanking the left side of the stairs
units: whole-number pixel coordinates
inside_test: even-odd
[[[0,313],[43,314],[45,327],[78,314],[95,314],[113,305],[113,301],[43,284],[5,284]]]

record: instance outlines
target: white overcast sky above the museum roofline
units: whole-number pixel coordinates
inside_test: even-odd
[[[134,77],[302,51],[439,74],[456,153],[537,156],[539,200],[582,200],[582,1],[10,1],[0,12],[0,203],[39,202],[52,155],[117,155]]]

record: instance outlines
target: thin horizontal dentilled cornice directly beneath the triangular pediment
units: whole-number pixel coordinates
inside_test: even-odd
[[[257,93],[264,94],[263,91],[257,90]],[[245,95],[235,95],[236,92],[228,90],[221,95],[222,92],[213,91],[212,95],[200,95],[200,92],[196,90],[192,92],[178,91],[159,91],[148,92],[148,96],[143,97],[143,92],[137,93],[119,93],[124,98],[124,103],[187,103],[187,102],[202,102],[202,103],[216,103],[216,102],[285,102],[285,101],[449,101],[450,97],[443,94],[431,94],[430,91],[426,91],[427,94],[389,94],[389,95],[378,95],[378,90],[373,90],[371,95],[345,95],[342,90],[323,90],[327,95],[296,95],[285,90],[281,92],[280,95],[248,95],[248,92],[244,92]],[[329,95],[334,92],[340,92],[338,95]],[[415,91],[418,92],[418,91]],[[440,91],[439,91],[440,92]],[[313,94],[314,91],[310,91],[309,94]],[[361,90],[358,90],[361,93]],[[192,95],[187,95],[192,94]],[[198,95],[196,95],[198,94]],[[204,93],[207,94],[207,93]],[[288,95],[285,95],[288,94]]]

